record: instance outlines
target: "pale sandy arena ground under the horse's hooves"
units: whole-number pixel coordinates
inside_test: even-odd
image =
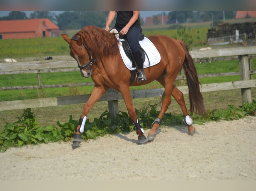
[[[115,134],[84,141],[9,148],[0,180],[256,180],[256,116],[233,121],[160,126],[153,142]],[[149,129],[145,130],[147,136]]]

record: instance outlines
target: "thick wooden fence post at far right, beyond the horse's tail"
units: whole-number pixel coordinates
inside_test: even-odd
[[[240,80],[250,80],[248,55],[239,55]],[[251,88],[241,89],[243,103],[252,103]]]

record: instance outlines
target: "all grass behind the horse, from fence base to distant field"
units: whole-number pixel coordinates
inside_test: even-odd
[[[238,20],[227,20],[226,22],[235,23]],[[251,19],[241,20],[239,22],[253,22]],[[207,30],[211,26],[211,22],[203,23],[186,23],[182,24],[191,29],[191,34],[193,35],[194,43],[191,48],[203,47],[207,43]],[[151,27],[143,26],[143,33],[145,36],[154,34],[164,34],[167,36],[175,37],[176,30],[170,30],[170,25],[157,25]],[[69,36],[74,35],[79,30],[67,30],[61,31],[60,33],[66,33]],[[54,55],[69,55],[69,46],[63,41],[62,37],[56,38],[37,38],[37,39],[9,39],[0,41],[0,62],[4,58],[13,58],[19,61],[19,59],[24,59],[26,57],[46,57]],[[253,59],[253,63],[256,60]],[[224,72],[238,72],[239,64],[238,60],[230,61],[216,61],[211,63],[195,63],[198,74],[212,74],[212,73],[224,73]],[[85,79],[81,77],[80,72],[69,72],[69,73],[43,73],[42,84],[65,84],[65,83],[81,83],[81,82],[92,82],[91,78]],[[256,78],[256,75],[254,75]],[[218,82],[230,82],[240,80],[239,76],[227,76],[227,77],[213,77],[213,78],[202,78],[200,82],[202,84],[208,83],[218,83]],[[178,83],[178,82],[177,82]],[[29,86],[37,85],[37,75],[36,74],[19,74],[19,75],[0,75],[0,87],[9,86]],[[178,85],[177,85],[178,86]],[[140,87],[131,87],[131,90],[138,89],[154,89],[162,88],[157,82],[152,82],[149,85],[144,85]],[[90,94],[92,92],[92,86],[86,87],[74,87],[74,88],[50,88],[42,90],[42,97],[55,97],[55,96],[67,96],[67,95],[79,95],[79,94]],[[240,106],[241,101],[241,90],[232,91],[218,91],[203,93],[205,105],[207,109],[221,109],[226,108],[229,104],[234,106]],[[188,95],[184,95],[187,107]],[[19,99],[30,99],[38,98],[37,90],[14,90],[14,91],[0,91],[0,101],[6,100],[19,100]],[[252,89],[252,98],[256,98],[256,89]],[[133,99],[136,108],[145,107],[147,104],[155,104],[160,101],[159,97],[143,98],[143,99]],[[83,104],[75,105],[65,105],[59,107],[47,107],[38,108],[40,118],[42,118],[41,123],[44,123],[45,118],[51,118],[50,123],[55,123],[55,119],[69,118],[69,114],[73,114],[74,118],[79,118],[82,112]],[[160,104],[158,104],[158,109]],[[125,104],[122,100],[119,101],[120,110],[126,111]],[[93,107],[91,111],[91,116],[99,116],[107,108],[107,102],[99,102]],[[3,111],[0,112],[3,121],[8,119],[8,116],[16,115],[22,110],[13,111]],[[65,111],[63,114],[62,111]],[[168,111],[180,113],[179,105],[172,101],[171,107]],[[54,114],[58,115],[55,116]],[[61,116],[60,116],[61,115]],[[63,116],[62,116],[63,115]],[[89,116],[90,117],[90,116]],[[41,119],[39,119],[41,120]],[[7,120],[8,121],[8,120]],[[55,122],[54,122],[55,121]],[[64,121],[62,121],[64,122]],[[66,122],[66,121],[65,121]],[[54,124],[55,125],[55,124]]]

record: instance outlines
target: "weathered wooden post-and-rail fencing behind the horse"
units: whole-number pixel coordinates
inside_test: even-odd
[[[251,88],[256,87],[256,80],[253,79],[253,74],[256,72],[253,71],[253,63],[252,63],[251,55],[256,55],[256,46],[190,51],[190,55],[192,56],[193,59],[238,56],[240,72],[199,75],[199,77],[202,78],[202,77],[227,76],[227,75],[240,74],[240,81],[203,84],[202,92],[241,89],[243,102],[252,102]],[[38,86],[1,87],[0,90],[38,89],[40,93],[40,90],[42,88],[85,86],[85,85],[93,84],[93,83],[92,84],[89,84],[89,83],[60,84],[60,85],[42,85],[41,84],[41,73],[70,72],[70,71],[79,71],[79,68],[77,67],[77,62],[73,59],[67,59],[65,61],[32,61],[32,62],[26,62],[26,63],[23,63],[23,62],[0,63],[0,75],[24,74],[24,73],[38,74]],[[177,79],[185,79],[185,77],[181,75],[181,76],[178,76]],[[178,89],[183,94],[188,94],[187,86],[180,86],[178,87]],[[144,97],[161,96],[163,92],[164,92],[163,88],[150,89],[150,90],[137,90],[137,91],[131,91],[131,95],[132,95],[132,98],[144,98]],[[73,95],[73,96],[38,98],[38,99],[1,101],[0,111],[85,103],[89,99],[89,97],[90,95]],[[121,94],[119,92],[116,92],[110,89],[107,93],[105,93],[100,98],[99,101],[108,101],[109,111],[114,116],[116,116],[119,112],[118,100],[120,99],[122,99]]]

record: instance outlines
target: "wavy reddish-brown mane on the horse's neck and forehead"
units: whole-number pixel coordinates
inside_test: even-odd
[[[90,50],[91,54],[100,55],[114,55],[117,53],[118,45],[117,38],[110,32],[96,26],[86,26],[74,36],[81,36],[82,42]],[[74,53],[79,56],[84,56],[85,51],[79,49],[83,44],[78,45],[77,41],[71,41],[71,46]]]

